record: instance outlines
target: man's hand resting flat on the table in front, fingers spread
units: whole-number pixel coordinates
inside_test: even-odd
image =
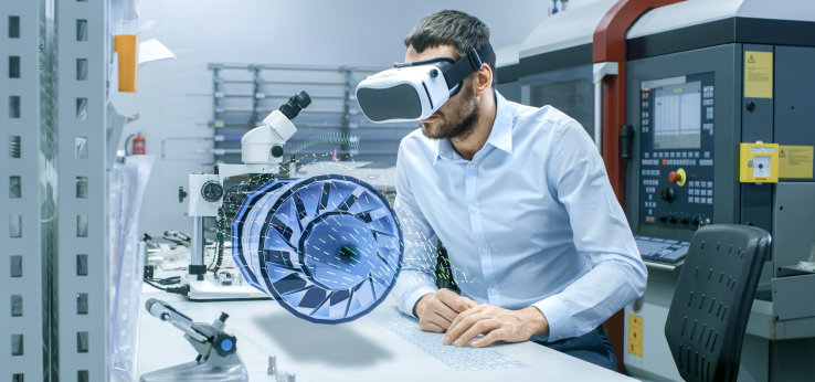
[[[536,307],[509,310],[479,304],[463,311],[451,322],[443,342],[463,347],[476,336],[485,335],[472,344],[483,348],[495,341],[521,342],[548,332],[549,322]]]

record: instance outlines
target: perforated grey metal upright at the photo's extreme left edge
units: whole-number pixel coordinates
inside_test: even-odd
[[[40,7],[0,3],[0,381],[43,380]]]

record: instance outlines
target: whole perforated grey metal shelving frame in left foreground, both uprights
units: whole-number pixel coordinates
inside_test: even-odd
[[[2,381],[108,379],[107,7],[0,4]]]

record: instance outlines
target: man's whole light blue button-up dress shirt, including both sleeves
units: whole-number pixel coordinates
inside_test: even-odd
[[[395,210],[404,235],[393,289],[413,315],[436,291],[436,241],[463,295],[534,306],[554,341],[584,335],[645,290],[646,268],[594,142],[551,106],[496,92],[496,119],[472,161],[421,129],[402,139]]]

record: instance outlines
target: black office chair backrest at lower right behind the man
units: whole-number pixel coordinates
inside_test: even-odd
[[[770,234],[716,224],[694,234],[670,301],[665,337],[686,381],[735,381]]]

